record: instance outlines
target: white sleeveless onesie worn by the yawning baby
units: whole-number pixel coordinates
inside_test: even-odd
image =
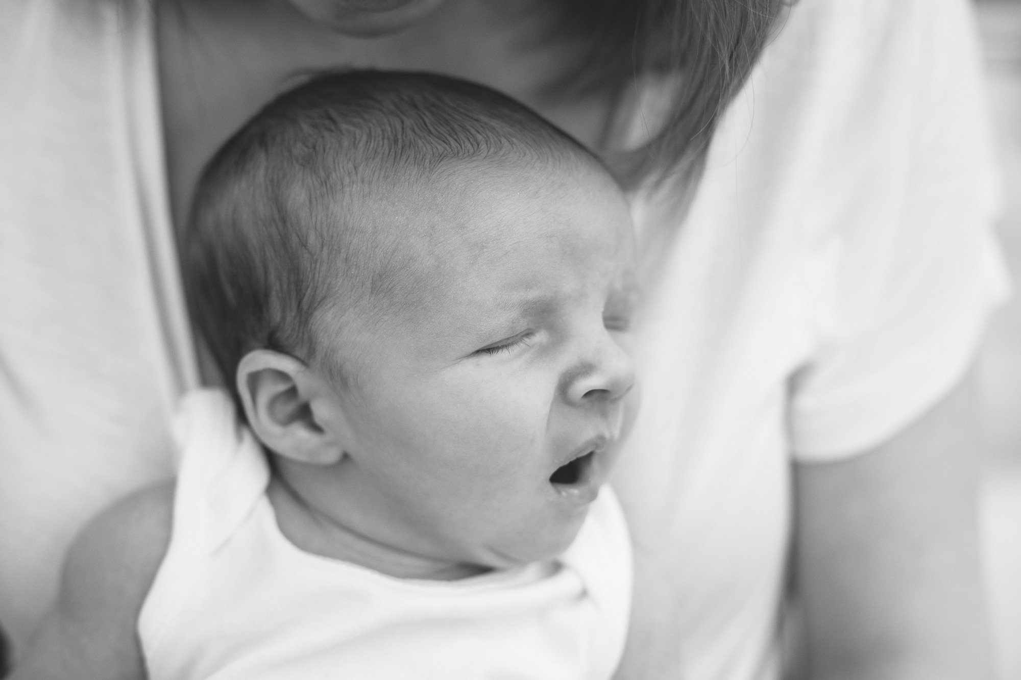
[[[603,488],[558,560],[460,581],[397,579],[303,552],[270,471],[217,390],[186,395],[169,547],[142,606],[151,680],[594,680],[621,657],[631,552]]]

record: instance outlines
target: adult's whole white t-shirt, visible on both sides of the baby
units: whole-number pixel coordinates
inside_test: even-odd
[[[0,4],[0,620],[18,644],[80,526],[169,474],[197,383],[151,16],[118,7]],[[966,370],[1005,290],[986,125],[965,0],[800,0],[730,106],[639,325],[615,478],[633,618],[671,622],[686,677],[775,676],[790,463],[867,450]],[[675,203],[638,197],[639,229],[677,226]],[[680,601],[643,590],[653,572]]]

